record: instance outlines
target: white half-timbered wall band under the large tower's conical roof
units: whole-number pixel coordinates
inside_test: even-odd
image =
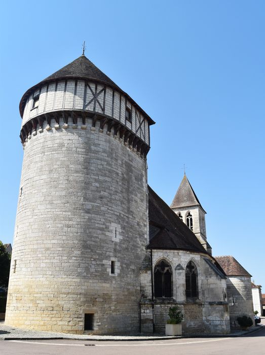
[[[123,94],[103,84],[84,80],[67,80],[46,84],[32,93],[23,114],[22,127],[34,117],[61,110],[85,110],[99,113],[120,121],[149,145],[149,129],[146,117]],[[97,95],[97,100],[94,95]],[[33,97],[40,94],[39,104],[32,108]],[[131,110],[131,122],[125,119],[126,108]]]

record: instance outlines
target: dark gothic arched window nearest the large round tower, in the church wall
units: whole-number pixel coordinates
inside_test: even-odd
[[[155,297],[172,297],[172,268],[165,260],[155,266],[154,283]]]

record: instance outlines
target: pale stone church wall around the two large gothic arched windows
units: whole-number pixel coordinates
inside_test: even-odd
[[[153,271],[164,259],[172,267],[173,299],[155,299],[154,322],[157,332],[165,331],[168,310],[176,303],[180,305],[184,318],[185,333],[229,333],[229,309],[226,302],[226,281],[217,275],[205,262],[206,255],[188,251],[153,250]],[[185,268],[193,261],[198,270],[199,299],[186,300]]]

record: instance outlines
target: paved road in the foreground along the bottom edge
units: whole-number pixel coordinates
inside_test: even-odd
[[[1,355],[264,355],[265,327],[239,338],[156,341],[28,340],[0,341]]]

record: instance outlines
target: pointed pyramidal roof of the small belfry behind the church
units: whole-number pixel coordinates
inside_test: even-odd
[[[202,207],[198,197],[196,196],[192,188],[192,185],[187,180],[186,174],[184,174],[183,179],[179,185],[177,193],[170,207],[179,208],[179,207],[198,206],[198,205]]]

